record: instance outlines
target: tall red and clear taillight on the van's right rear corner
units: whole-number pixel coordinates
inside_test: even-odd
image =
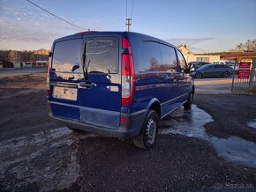
[[[122,107],[126,107],[131,104],[134,92],[132,49],[126,38],[123,38],[123,48],[127,48],[127,53],[122,55]]]

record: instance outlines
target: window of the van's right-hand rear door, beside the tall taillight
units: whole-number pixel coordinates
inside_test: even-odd
[[[87,65],[89,73],[118,72],[118,38],[96,37],[86,39]]]

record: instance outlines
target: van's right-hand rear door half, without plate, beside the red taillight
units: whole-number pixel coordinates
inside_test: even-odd
[[[117,129],[121,110],[121,71],[118,37],[83,39],[79,82],[80,121]]]

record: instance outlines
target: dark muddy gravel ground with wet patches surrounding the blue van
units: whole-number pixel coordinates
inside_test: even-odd
[[[52,122],[45,74],[0,78],[0,191],[254,191],[256,97],[207,92],[207,81],[142,151]]]

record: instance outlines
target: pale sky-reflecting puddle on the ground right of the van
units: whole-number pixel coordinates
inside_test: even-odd
[[[213,122],[210,114],[192,106],[191,111],[178,108],[160,123],[160,134],[179,134],[197,137],[213,144],[215,151],[222,158],[237,164],[256,167],[256,144],[241,137],[218,138],[207,135],[204,125]],[[249,125],[250,124],[250,125]],[[255,126],[249,122],[248,126]]]

